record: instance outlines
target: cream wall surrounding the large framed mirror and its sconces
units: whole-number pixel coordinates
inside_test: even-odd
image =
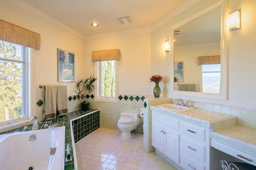
[[[170,28],[181,20],[190,17],[192,14],[199,12],[218,2],[218,0],[202,0],[198,4],[178,16],[174,17],[168,23],[152,31],[151,34],[151,71],[158,70],[159,74],[167,80],[160,83],[164,89],[161,96],[178,98],[170,93],[170,54],[161,51],[161,45],[166,39],[170,39]],[[254,27],[256,24],[256,1],[251,0],[228,0],[227,13],[234,10],[241,10],[241,29],[228,32],[228,57],[227,57],[227,96],[228,100],[216,100],[207,98],[196,98],[182,96],[185,100],[194,100],[213,104],[224,104],[228,106],[237,106],[256,109],[254,98],[256,96],[256,34]],[[186,75],[184,75],[186,76]],[[152,87],[151,87],[152,88]]]

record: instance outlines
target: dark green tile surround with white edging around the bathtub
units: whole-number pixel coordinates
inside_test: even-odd
[[[52,122],[48,123],[48,121],[43,121],[43,123],[38,123],[38,129],[44,129],[45,123],[49,126],[55,123],[59,123],[61,126],[65,126],[65,147],[67,144],[70,144],[71,157],[72,161],[66,162],[64,165],[64,170],[78,170],[77,161],[76,161],[76,153],[75,153],[75,139],[76,142],[90,134],[92,131],[98,129],[100,127],[100,110],[90,110],[90,111],[74,111],[70,112],[64,116],[57,117],[56,119],[52,119]],[[87,119],[90,119],[88,121]],[[23,127],[19,127],[18,129],[13,129],[10,131],[6,131],[0,134],[6,133],[14,133],[23,131]],[[28,125],[28,129],[26,131],[31,131],[32,125]],[[76,137],[76,138],[74,138]],[[74,146],[74,147],[73,147]],[[65,152],[65,158],[67,157],[67,153]]]

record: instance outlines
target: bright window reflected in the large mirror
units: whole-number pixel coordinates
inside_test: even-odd
[[[220,64],[202,66],[202,92],[220,93]]]

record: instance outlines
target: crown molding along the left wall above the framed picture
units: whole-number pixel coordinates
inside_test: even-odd
[[[75,35],[81,39],[84,40],[84,35],[79,33],[78,31],[75,31],[74,29],[68,27],[67,25],[65,25],[64,23],[52,18],[51,16],[49,16],[48,14],[45,14],[44,12],[38,10],[37,8],[31,6],[30,4],[22,1],[22,0],[7,0],[8,2],[14,4],[15,6],[18,6],[28,12],[30,12],[31,14],[34,14],[35,16],[38,16],[40,18],[42,18],[45,21],[48,21],[49,23],[71,33],[72,35]]]

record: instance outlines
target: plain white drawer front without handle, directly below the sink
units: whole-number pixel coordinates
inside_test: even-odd
[[[173,117],[170,117],[168,115],[164,115],[162,113],[157,113],[155,111],[152,111],[152,121],[158,121],[164,125],[167,125],[173,129],[179,130],[180,121],[177,119],[174,119]]]

